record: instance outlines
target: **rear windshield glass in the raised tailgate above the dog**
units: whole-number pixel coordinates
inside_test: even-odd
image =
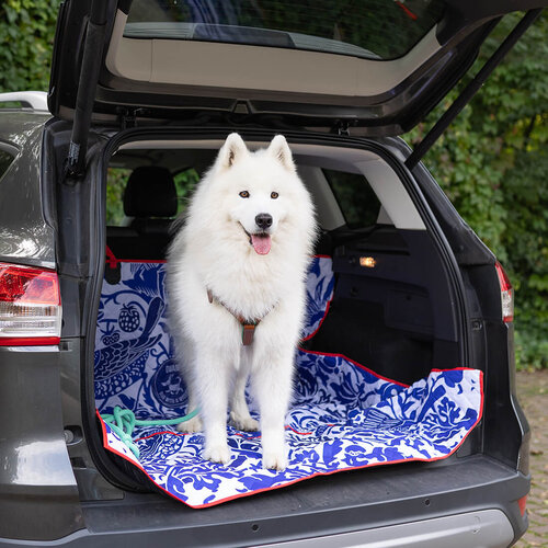
[[[134,0],[124,36],[393,59],[442,14],[441,0]]]

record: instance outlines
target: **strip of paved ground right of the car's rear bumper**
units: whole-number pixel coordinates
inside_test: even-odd
[[[533,484],[527,499],[529,528],[515,546],[548,547],[548,369],[520,372],[517,396],[532,430]]]

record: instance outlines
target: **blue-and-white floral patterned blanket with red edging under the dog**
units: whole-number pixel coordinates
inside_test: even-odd
[[[98,416],[114,406],[144,420],[181,416],[187,412],[186,393],[165,322],[164,264],[116,261],[116,267],[119,281],[105,279],[98,318]],[[332,298],[329,258],[315,258],[307,289],[304,339],[319,329]],[[295,396],[286,416],[289,465],[284,471],[261,467],[260,432],[230,425],[232,457],[227,466],[202,458],[202,433],[182,434],[174,426],[137,427],[137,459],[101,421],[104,446],[171,496],[204,507],[318,475],[445,458],[481,418],[482,374],[476,369],[432,370],[406,386],[336,354],[299,350],[296,365]],[[252,401],[250,409],[258,418]]]

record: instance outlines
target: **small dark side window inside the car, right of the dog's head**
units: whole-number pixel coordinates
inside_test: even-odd
[[[323,174],[350,228],[369,227],[377,222],[380,202],[364,175],[327,169]]]

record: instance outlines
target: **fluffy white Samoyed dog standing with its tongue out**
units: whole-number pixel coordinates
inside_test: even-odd
[[[285,137],[251,152],[238,134],[199,182],[168,253],[171,332],[189,389],[179,424],[204,430],[204,458],[227,464],[227,411],[261,430],[263,468],[287,465],[285,414],[316,237],[310,195]],[[246,386],[259,408],[250,415]]]

